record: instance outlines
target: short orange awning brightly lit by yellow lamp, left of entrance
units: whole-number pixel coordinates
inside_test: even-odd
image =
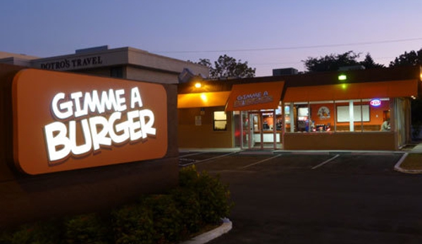
[[[203,92],[199,94],[179,94],[178,108],[204,108],[224,106],[230,91]]]

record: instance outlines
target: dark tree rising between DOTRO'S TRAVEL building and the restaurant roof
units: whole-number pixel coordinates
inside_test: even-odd
[[[212,79],[255,77],[256,68],[250,68],[247,62],[242,63],[241,60],[237,61],[235,58],[227,55],[218,57],[218,60],[214,62],[214,66],[211,64],[211,61],[206,58],[199,59],[199,62],[197,63],[209,68],[209,76]]]

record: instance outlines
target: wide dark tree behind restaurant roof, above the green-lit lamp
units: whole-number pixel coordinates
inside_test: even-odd
[[[308,58],[302,60],[308,72],[336,71],[342,66],[363,65],[366,69],[383,68],[384,65],[375,63],[371,54],[366,53],[365,59],[359,62],[357,59],[361,53],[347,51],[342,54],[330,54],[320,58]]]

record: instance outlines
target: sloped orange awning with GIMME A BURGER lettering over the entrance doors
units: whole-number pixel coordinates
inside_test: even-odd
[[[235,84],[225,106],[226,111],[278,108],[284,82]]]

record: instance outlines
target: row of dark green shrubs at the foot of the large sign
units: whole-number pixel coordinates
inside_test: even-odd
[[[233,206],[219,176],[180,169],[179,187],[166,195],[145,195],[106,216],[81,214],[24,224],[0,233],[0,244],[177,243],[206,224],[220,224]]]

